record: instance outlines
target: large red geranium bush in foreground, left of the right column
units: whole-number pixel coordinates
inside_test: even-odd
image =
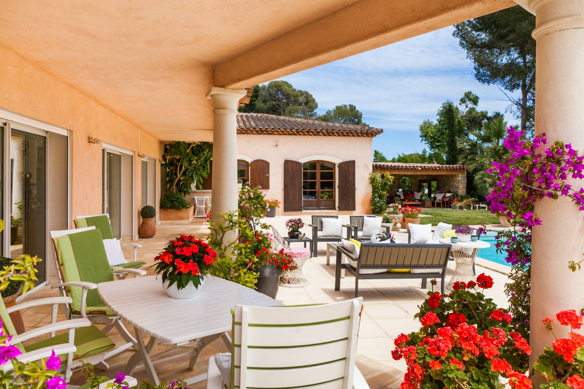
[[[476,282],[457,282],[447,296],[428,292],[415,315],[422,328],[394,341],[392,356],[408,365],[402,389],[502,389],[499,377],[515,389],[533,386],[520,357],[531,348],[513,331],[511,315],[482,293],[492,286],[482,273]]]

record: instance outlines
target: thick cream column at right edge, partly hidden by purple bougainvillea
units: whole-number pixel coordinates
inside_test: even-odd
[[[584,2],[530,0],[536,15],[533,37],[537,41],[536,134],[548,141],[572,143],[584,152]],[[583,180],[574,180],[579,189]],[[531,364],[554,337],[541,319],[554,318],[555,335],[566,336],[555,314],[584,306],[584,269],[572,273],[568,261],[584,253],[584,212],[570,199],[545,199],[536,205],[543,225],[533,229],[531,254]],[[538,387],[542,377],[534,377]]]

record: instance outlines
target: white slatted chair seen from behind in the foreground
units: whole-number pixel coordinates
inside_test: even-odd
[[[355,366],[362,304],[236,305],[231,353],[209,359],[207,389],[369,389]]]

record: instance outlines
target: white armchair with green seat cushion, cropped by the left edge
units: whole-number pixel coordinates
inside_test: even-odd
[[[101,363],[106,358],[108,350],[113,349],[115,346],[112,340],[100,331],[99,328],[95,327],[95,325],[91,325],[88,319],[79,318],[57,322],[58,305],[71,304],[71,301],[71,297],[49,297],[26,301],[25,303],[6,308],[0,298],[2,329],[6,335],[12,335],[9,343],[18,347],[23,352],[23,354],[18,356],[20,362],[35,362],[41,358],[47,358],[54,350],[55,354],[59,355],[62,361],[66,361],[66,363],[61,364],[61,371],[64,372],[65,381],[69,381],[72,372],[80,369],[81,364],[84,362],[91,362],[97,367],[103,367]],[[9,314],[38,305],[53,306],[51,324],[31,329],[24,334],[16,334]],[[55,336],[55,331],[64,329],[67,330],[66,333]],[[27,344],[26,346],[22,343],[44,334],[51,334],[51,336],[50,338]],[[8,362],[0,367],[0,369],[4,371],[11,370],[12,363]]]

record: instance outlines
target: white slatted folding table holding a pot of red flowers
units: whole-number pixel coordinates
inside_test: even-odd
[[[205,346],[215,339],[223,338],[231,349],[231,309],[236,304],[270,307],[282,305],[248,287],[218,277],[208,276],[203,289],[193,298],[176,299],[162,290],[160,277],[140,277],[98,284],[98,293],[103,302],[120,318],[134,326],[138,351],[128,360],[125,373],[132,374],[144,369],[151,383],[159,384],[154,364],[167,362],[182,356],[190,356],[189,369],[193,370]],[[150,335],[147,343],[143,335]],[[193,342],[194,341],[194,342]],[[157,345],[171,346],[154,353]],[[176,353],[182,349],[182,353]],[[175,353],[175,355],[152,360]],[[193,384],[207,378],[200,374],[186,380]]]

